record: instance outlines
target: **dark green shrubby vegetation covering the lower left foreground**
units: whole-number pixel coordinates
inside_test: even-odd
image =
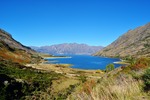
[[[52,80],[57,80],[62,75],[55,72],[42,72],[26,68],[10,61],[0,61],[0,98],[1,100],[25,99],[25,96],[47,93]],[[49,91],[50,92],[50,91]]]

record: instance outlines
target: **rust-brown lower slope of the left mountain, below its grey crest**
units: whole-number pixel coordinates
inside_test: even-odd
[[[37,63],[42,59],[36,53],[31,54],[25,50],[10,47],[3,41],[0,41],[0,57],[20,64]]]

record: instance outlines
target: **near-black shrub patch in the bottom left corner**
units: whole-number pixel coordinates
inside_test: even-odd
[[[30,93],[28,88],[29,86],[26,82],[17,82],[5,74],[0,74],[1,100],[20,100]]]

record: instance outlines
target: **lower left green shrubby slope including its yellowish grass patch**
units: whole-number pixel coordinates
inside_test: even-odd
[[[53,71],[27,68],[0,59],[1,100],[67,98],[78,82]],[[62,84],[65,84],[65,87],[62,87]]]

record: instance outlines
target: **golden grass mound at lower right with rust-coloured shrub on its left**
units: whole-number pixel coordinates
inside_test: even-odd
[[[141,80],[121,74],[118,77],[105,77],[94,87],[84,85],[83,91],[72,93],[68,100],[149,100],[142,85]]]

